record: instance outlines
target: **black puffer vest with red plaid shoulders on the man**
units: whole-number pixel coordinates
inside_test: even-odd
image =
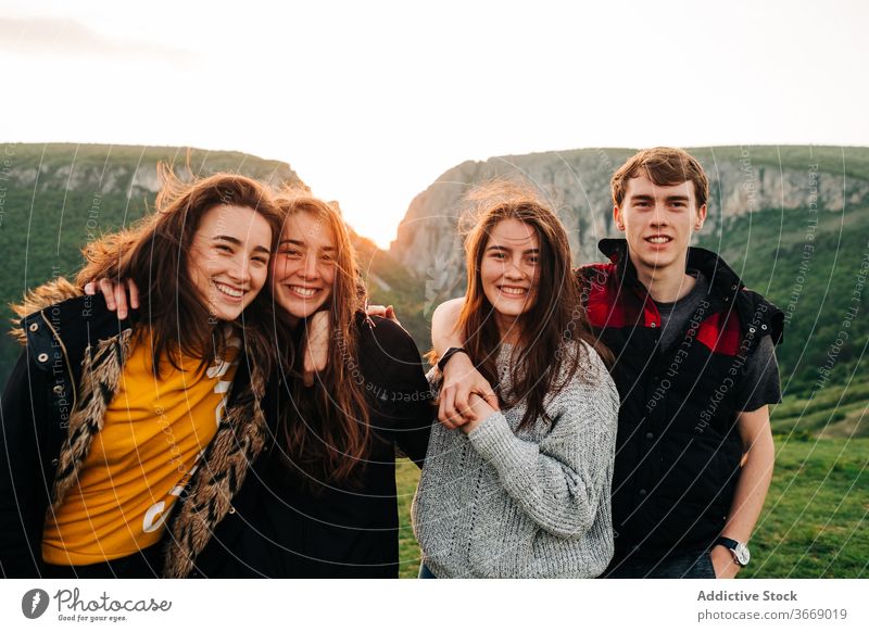
[[[660,315],[624,240],[605,239],[613,263],[580,268],[591,326],[613,351],[621,396],[613,477],[615,560],[658,559],[711,545],[740,476],[740,381],[764,336],[781,340],[782,313],[716,254],[689,249],[688,268],[709,293],[667,350]]]

